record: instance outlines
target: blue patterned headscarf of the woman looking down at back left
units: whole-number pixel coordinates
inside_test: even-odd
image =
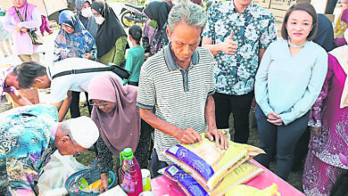
[[[69,10],[62,11],[59,14],[59,24],[74,29],[74,32],[69,34],[61,27],[54,40],[54,44],[60,49],[61,59],[83,58],[84,53],[89,53],[92,50],[93,45],[95,45],[95,38],[82,26],[73,12]]]

